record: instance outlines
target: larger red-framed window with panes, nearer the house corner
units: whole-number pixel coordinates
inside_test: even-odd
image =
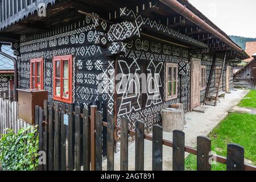
[[[53,99],[72,104],[72,55],[53,57]]]

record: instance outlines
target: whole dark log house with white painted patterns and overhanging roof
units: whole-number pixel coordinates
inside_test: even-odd
[[[46,17],[36,13],[38,2],[13,2],[0,13],[0,40],[19,45],[19,88],[45,89],[51,101],[85,107],[104,102],[117,125],[127,117],[132,129],[140,120],[150,131],[170,104],[188,112],[229,92],[233,65],[249,58],[188,1],[40,1],[52,4]],[[131,82],[114,90],[117,73]],[[149,86],[130,73],[145,73]],[[104,93],[97,89],[102,81]],[[122,91],[131,86],[136,92]]]

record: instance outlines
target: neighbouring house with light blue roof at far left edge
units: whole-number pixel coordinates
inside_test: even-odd
[[[10,46],[2,46],[1,51],[10,56],[13,50]],[[0,55],[0,98],[13,98],[14,91],[14,64],[13,61]]]

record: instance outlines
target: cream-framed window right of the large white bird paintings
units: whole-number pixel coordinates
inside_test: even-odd
[[[166,64],[166,101],[177,98],[177,72],[177,64]]]

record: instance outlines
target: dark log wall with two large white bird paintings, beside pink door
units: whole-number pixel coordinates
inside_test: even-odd
[[[178,66],[184,63],[187,68],[186,75],[182,77],[178,75],[178,97],[171,101],[166,101],[165,96],[166,63],[177,63]],[[118,57],[118,73],[126,75],[129,73],[139,75],[141,73],[146,73],[146,75],[152,73],[152,77],[159,74],[160,81],[155,82],[156,88],[159,89],[153,93],[155,98],[159,95],[158,99],[155,100],[150,99],[150,96],[152,96],[150,93],[147,93],[146,96],[142,94],[141,80],[139,85],[133,85],[134,88],[138,86],[141,90],[140,93],[130,95],[118,93],[117,125],[120,125],[122,117],[126,117],[130,119],[130,129],[135,129],[135,121],[145,121],[145,129],[151,131],[153,125],[161,122],[160,110],[170,106],[170,104],[180,102],[180,100],[185,111],[189,111],[191,61],[189,60],[188,49],[142,36],[140,39],[134,39],[127,43],[126,53]],[[128,77],[126,78],[129,80]],[[136,78],[133,78],[133,80]]]

